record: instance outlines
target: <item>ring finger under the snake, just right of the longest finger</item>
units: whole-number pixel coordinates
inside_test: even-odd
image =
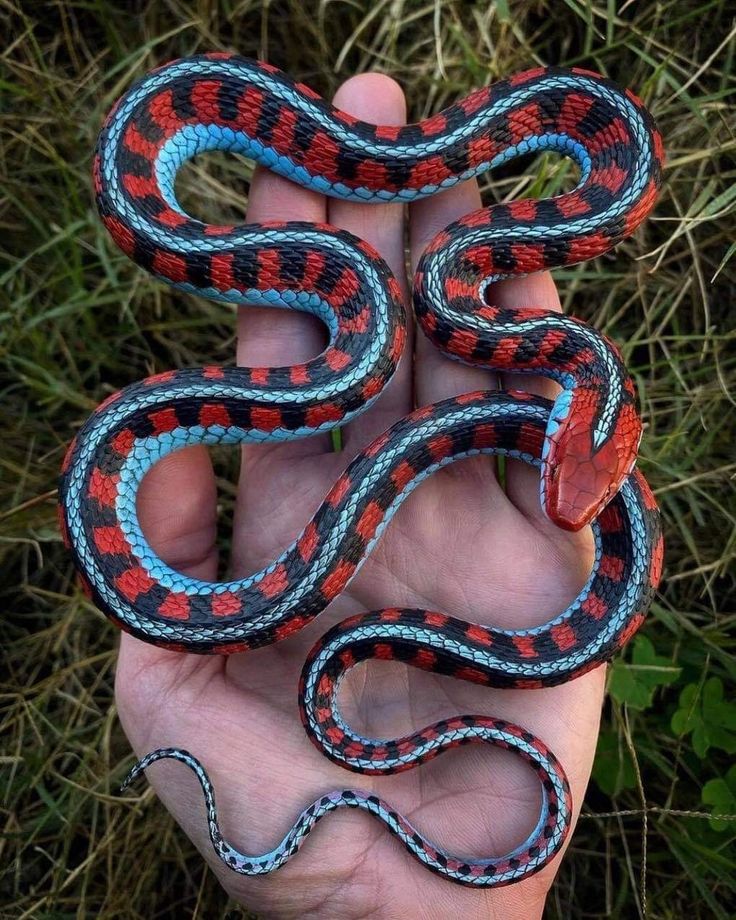
[[[441,230],[480,207],[480,191],[475,179],[413,204],[409,223],[412,271],[427,245]],[[432,345],[421,330],[418,331],[415,369],[418,406],[495,386],[494,374],[450,360]]]

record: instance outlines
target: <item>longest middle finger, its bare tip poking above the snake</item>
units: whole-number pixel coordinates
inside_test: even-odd
[[[406,123],[406,101],[395,80],[377,73],[361,74],[347,80],[338,89],[335,105],[351,115],[376,125]],[[404,258],[405,207],[403,204],[362,204],[330,199],[327,219],[336,227],[354,233],[370,243],[388,263],[408,301],[406,265]],[[411,330],[412,324],[409,324]],[[347,447],[362,445],[384,431],[396,418],[411,409],[411,335],[407,339],[404,358],[371,412],[351,423],[344,432]]]

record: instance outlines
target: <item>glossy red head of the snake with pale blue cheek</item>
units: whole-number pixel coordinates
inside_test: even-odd
[[[542,506],[553,523],[580,530],[600,514],[634,467],[641,431],[633,402],[602,429],[596,390],[560,393],[542,452]]]

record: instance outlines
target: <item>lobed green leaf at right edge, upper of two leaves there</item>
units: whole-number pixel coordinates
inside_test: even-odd
[[[698,684],[685,687],[671,727],[680,737],[692,732],[693,750],[701,759],[711,747],[736,753],[736,704],[724,700],[719,677],[707,680],[702,690]]]

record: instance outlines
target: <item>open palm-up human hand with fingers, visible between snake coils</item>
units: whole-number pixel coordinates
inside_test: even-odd
[[[396,83],[368,74],[348,81],[336,104],[366,121],[400,124]],[[480,206],[474,182],[412,206],[412,259],[434,234]],[[254,179],[248,219],[329,221],[372,243],[405,283],[401,205],[326,200],[269,173]],[[405,286],[406,290],[406,286]],[[504,306],[559,309],[549,275],[497,284]],[[291,364],[321,350],[311,317],[244,309],[238,362]],[[414,366],[412,366],[412,349]],[[505,388],[553,395],[549,381],[511,378]],[[486,371],[442,357],[421,336],[386,393],[343,432],[329,438],[243,450],[236,506],[234,577],[272,561],[301,531],[351,457],[415,405],[499,384]],[[519,758],[485,745],[453,751],[409,773],[360,776],[337,767],[310,743],[299,720],[297,682],[316,639],[349,614],[416,606],[505,627],[542,623],[582,587],[592,562],[589,532],[570,534],[543,516],[539,474],[509,463],[505,489],[492,460],[465,460],[425,482],[399,510],[348,590],[301,633],[244,655],[197,656],[164,651],[123,635],[117,700],[139,755],[177,746],[199,757],[215,785],[221,829],[249,853],[273,847],[301,809],[324,792],[375,792],[431,840],[455,854],[507,852],[526,838],[539,809],[539,785]],[[146,478],[138,508],[156,551],[187,574],[214,580],[216,494],[209,457],[191,448],[162,461]],[[367,737],[395,737],[439,718],[485,714],[537,734],[558,755],[579,806],[590,774],[603,695],[604,668],[545,690],[489,690],[398,664],[357,668],[341,691],[349,723]],[[277,873],[235,875],[212,851],[201,793],[181,766],[148,773],[159,797],[194,840],[227,891],[264,917],[523,918],[542,914],[559,857],[517,885],[475,891],[452,885],[412,860],[369,816],[331,815]]]

